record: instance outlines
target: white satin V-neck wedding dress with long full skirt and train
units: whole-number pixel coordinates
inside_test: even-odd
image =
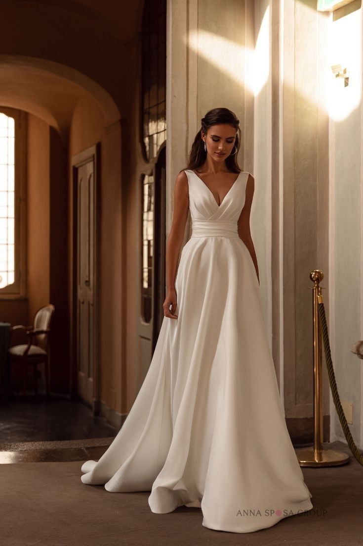
[[[245,533],[312,508],[285,423],[255,266],[237,232],[249,173],[218,205],[186,170],[192,235],[146,378],[84,484],[151,491],[152,512],[201,507],[202,525]],[[172,520],[170,520],[172,525]]]

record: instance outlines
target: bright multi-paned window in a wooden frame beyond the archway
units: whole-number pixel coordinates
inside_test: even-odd
[[[0,298],[25,295],[25,121],[0,107]]]

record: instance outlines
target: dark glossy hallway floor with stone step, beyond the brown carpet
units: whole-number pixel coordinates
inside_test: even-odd
[[[79,400],[14,396],[0,405],[0,464],[98,460],[117,432]]]

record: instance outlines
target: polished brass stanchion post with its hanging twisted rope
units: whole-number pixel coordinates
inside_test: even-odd
[[[322,340],[325,362],[328,367],[329,383],[335,408],[338,413],[348,446],[359,464],[363,465],[363,455],[356,447],[340,402],[331,360],[328,327],[326,325],[322,288],[319,283],[324,274],[320,269],[311,272],[314,283],[313,294],[313,360],[314,360],[314,444],[310,448],[295,449],[300,466],[337,466],[346,464],[349,455],[333,449],[323,448],[323,391],[322,391]]]

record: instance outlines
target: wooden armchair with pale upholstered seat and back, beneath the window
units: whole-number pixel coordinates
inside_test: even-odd
[[[15,330],[25,330],[28,336],[28,343],[22,345],[13,345],[9,347],[10,365],[13,361],[21,363],[23,366],[23,395],[26,395],[26,382],[28,365],[33,366],[35,394],[38,394],[37,370],[38,364],[44,363],[46,395],[49,396],[49,332],[55,306],[47,304],[40,307],[34,315],[34,324],[23,326],[19,324],[10,329],[11,335]]]

